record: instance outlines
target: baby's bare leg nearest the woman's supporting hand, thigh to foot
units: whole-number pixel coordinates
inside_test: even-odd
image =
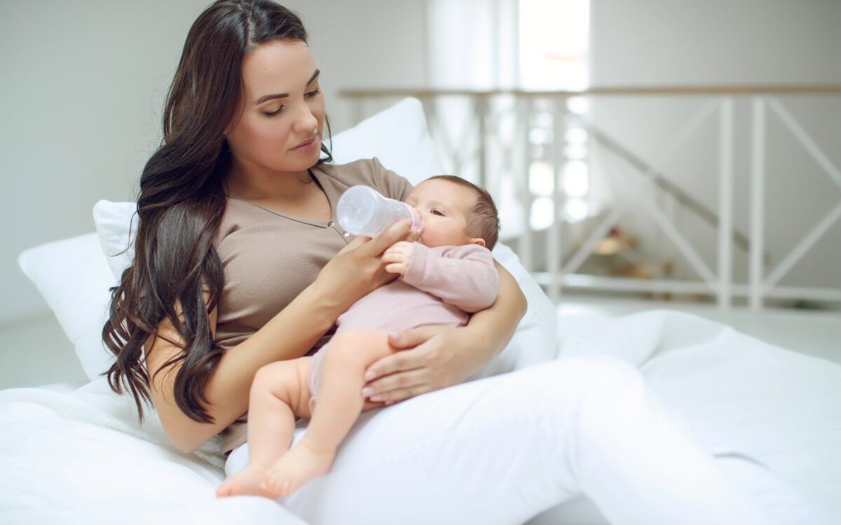
[[[395,351],[388,334],[363,331],[336,334],[325,350],[320,393],[307,431],[272,465],[263,486],[278,496],[288,496],[330,470],[336,449],[362,412],[365,369]]]

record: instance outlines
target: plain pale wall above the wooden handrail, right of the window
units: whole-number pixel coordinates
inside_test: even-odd
[[[592,84],[837,82],[838,0],[591,0]]]

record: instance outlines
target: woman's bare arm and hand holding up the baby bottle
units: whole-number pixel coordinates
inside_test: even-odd
[[[204,386],[205,408],[214,423],[201,423],[184,415],[173,395],[181,365],[164,369],[151,381],[151,396],[172,444],[182,452],[191,453],[247,412],[257,370],[274,361],[304,355],[353,302],[394,279],[394,274],[386,272],[380,260],[383,251],[400,240],[416,237],[416,232],[410,232],[410,222],[404,221],[375,239],[353,239],[287,307],[251,337],[225,351]],[[176,311],[181,316],[180,305],[176,305]],[[208,316],[211,333],[215,334],[215,308]],[[150,378],[167,360],[180,354],[184,346],[168,319],[160,324],[158,334],[157,338],[150,336],[144,345]]]

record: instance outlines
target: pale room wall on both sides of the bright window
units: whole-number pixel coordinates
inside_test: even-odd
[[[0,322],[46,309],[17,267],[21,250],[93,231],[91,208],[98,199],[135,197],[140,171],[160,142],[161,104],[183,40],[208,4],[0,3],[0,176],[6,188],[0,197],[0,294],[6,298]],[[349,105],[336,96],[340,89],[426,84],[425,0],[285,5],[300,13],[309,29],[334,131],[350,126],[353,118]],[[591,9],[594,85],[841,81],[837,0],[592,0]],[[600,122],[652,158],[672,133],[671,124],[691,106],[673,102],[668,112],[628,105],[596,109]],[[791,107],[841,165],[837,106],[799,99]],[[737,117],[743,137],[746,107],[737,108]],[[770,165],[776,171],[770,174],[769,231],[770,249],[779,254],[838,192],[773,125]],[[707,181],[716,159],[714,129],[689,154],[690,162],[672,170],[677,181],[711,205],[715,188]],[[743,202],[748,143],[740,140],[737,198]],[[797,183],[786,185],[785,175],[796,175]],[[791,196],[802,205],[793,215],[777,213]],[[746,207],[737,210],[737,225],[747,231]],[[841,282],[838,250],[833,251],[841,245],[838,229],[834,244],[807,256],[796,280]]]

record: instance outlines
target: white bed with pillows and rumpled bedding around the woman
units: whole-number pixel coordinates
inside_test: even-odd
[[[413,181],[441,171],[415,100],[334,143],[337,162],[376,155]],[[106,258],[103,249],[128,239],[127,209],[100,202],[97,234],[41,245],[19,259],[93,380],[75,390],[0,391],[0,522],[303,523],[265,498],[216,499],[224,477],[217,444],[177,452],[153,411],[140,427],[134,400],[117,396],[98,377],[108,365],[99,341],[108,286],[130,257]],[[526,291],[529,313],[477,378],[546,360],[615,354],[637,365],[701,447],[784,522],[841,522],[841,366],[685,313],[558,316],[510,249],[500,245],[495,255]],[[602,522],[579,499],[531,523]]]

